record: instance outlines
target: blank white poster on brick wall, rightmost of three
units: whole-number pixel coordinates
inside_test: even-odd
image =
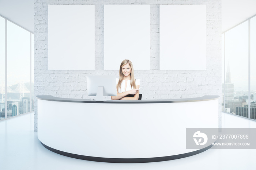
[[[160,69],[206,69],[206,5],[160,5]]]

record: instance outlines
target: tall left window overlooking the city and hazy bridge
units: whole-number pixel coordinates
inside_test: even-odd
[[[33,39],[31,32],[0,17],[0,119],[33,111]]]

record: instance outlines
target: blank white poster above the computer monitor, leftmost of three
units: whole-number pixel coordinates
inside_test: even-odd
[[[49,5],[48,11],[48,69],[94,70],[94,5]]]

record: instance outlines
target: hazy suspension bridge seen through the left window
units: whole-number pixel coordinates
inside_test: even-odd
[[[26,85],[24,82],[19,82],[17,83],[18,86],[16,87],[15,90],[12,90],[10,86],[7,87],[7,93],[19,93],[20,99],[24,97],[24,93],[30,93],[30,90],[27,89]],[[0,87],[0,94],[2,95],[2,102],[5,100],[5,87],[1,86]]]

